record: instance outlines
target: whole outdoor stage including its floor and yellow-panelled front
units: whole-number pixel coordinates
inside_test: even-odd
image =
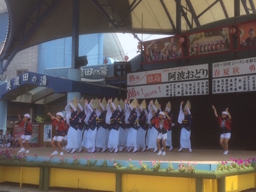
[[[0,148],[0,152],[3,150],[19,151],[20,148]],[[221,162],[246,162],[248,159],[255,162],[255,151],[230,150],[228,155],[223,155],[223,150],[193,149],[193,152],[188,152],[188,149],[184,149],[178,152],[178,148],[174,148],[169,152],[167,148],[165,156],[157,156],[151,150],[136,153],[125,150],[118,153],[83,151],[74,154],[64,151],[64,156],[51,156],[51,147],[31,147],[29,151],[29,154],[20,154],[27,156],[26,161],[0,159],[0,173],[3,173],[0,174],[0,183],[18,182],[20,186],[35,184],[44,191],[51,187],[61,187],[96,191],[149,192],[161,189],[160,191],[221,192],[256,187],[254,165],[217,170]],[[145,170],[141,169],[141,161],[147,164]],[[161,167],[154,170],[152,162],[160,163]],[[120,163],[121,167],[115,167],[115,163]],[[166,168],[170,164],[173,170],[168,171]],[[188,164],[193,164],[196,172],[179,170],[180,165]]]

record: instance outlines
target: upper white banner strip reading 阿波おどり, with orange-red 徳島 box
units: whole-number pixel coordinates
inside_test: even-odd
[[[127,86],[206,79],[208,64],[163,68],[127,74]]]

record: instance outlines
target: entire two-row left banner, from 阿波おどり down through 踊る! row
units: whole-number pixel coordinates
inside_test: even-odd
[[[127,98],[209,95],[208,64],[164,68],[127,75]]]

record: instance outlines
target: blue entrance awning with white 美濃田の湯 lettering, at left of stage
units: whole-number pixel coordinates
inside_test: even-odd
[[[16,102],[49,104],[68,92],[80,92],[86,97],[125,96],[124,89],[115,86],[72,81],[60,77],[26,72],[0,85],[0,98]]]

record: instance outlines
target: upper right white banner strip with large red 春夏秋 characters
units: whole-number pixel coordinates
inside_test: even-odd
[[[256,73],[256,58],[212,63],[212,79]]]

